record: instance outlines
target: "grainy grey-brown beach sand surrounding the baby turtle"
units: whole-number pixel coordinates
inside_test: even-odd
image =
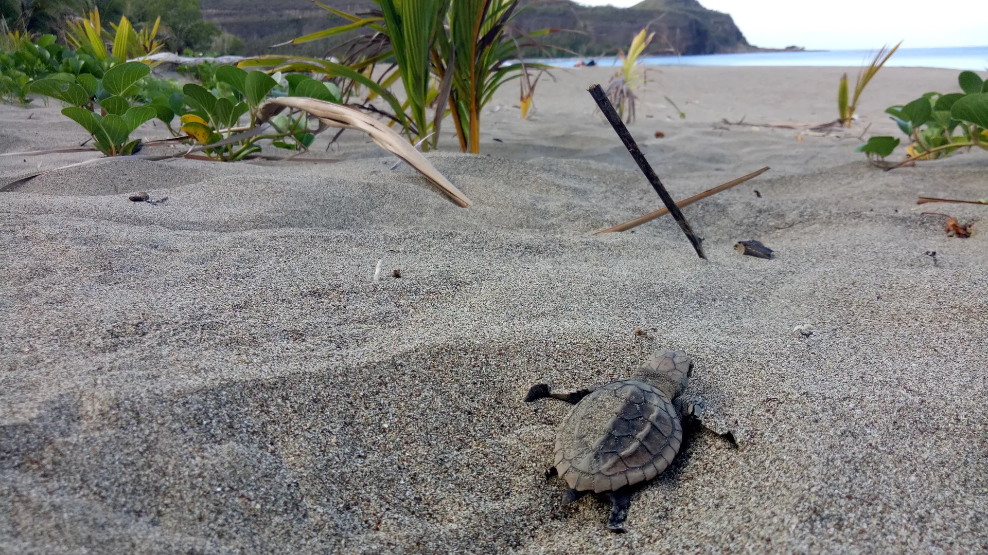
[[[0,195],[0,551],[988,549],[988,229],[920,214],[988,208],[915,203],[988,197],[988,155],[882,172],[853,152],[957,72],[882,70],[842,139],[717,128],[833,119],[845,70],[651,73],[630,128],[674,198],[773,168],[684,210],[708,261],[668,216],[591,234],[660,205],[592,114],[605,68],[543,79],[528,121],[505,87],[481,156],[448,125],[428,156],[470,209],[356,133],[317,142],[337,164],[117,161]],[[82,142],[38,104],[0,107],[0,150]],[[669,348],[738,446],[692,436],[614,534],[604,501],[561,507],[544,478],[567,406],[522,398]]]

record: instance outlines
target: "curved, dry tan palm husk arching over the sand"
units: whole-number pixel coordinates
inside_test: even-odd
[[[473,203],[458,189],[453,187],[453,184],[443,177],[443,174],[439,173],[439,170],[432,165],[432,162],[422,156],[411,143],[405,140],[394,129],[377,119],[373,119],[353,108],[300,97],[282,97],[268,101],[261,108],[261,114],[264,115],[262,118],[272,118],[279,112],[277,109],[273,110],[271,108],[273,106],[282,106],[307,112],[330,127],[364,131],[371,136],[371,139],[377,143],[377,146],[404,160],[406,164],[414,168],[444,194],[453,199],[453,202],[464,208],[468,208]]]

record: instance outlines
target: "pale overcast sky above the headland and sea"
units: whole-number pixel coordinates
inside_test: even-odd
[[[577,0],[619,7],[640,0]],[[813,49],[988,46],[988,0],[700,0],[730,14],[749,43]]]

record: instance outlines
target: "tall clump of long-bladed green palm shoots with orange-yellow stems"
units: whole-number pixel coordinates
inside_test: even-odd
[[[461,151],[478,153],[484,107],[504,83],[545,66],[518,61],[520,48],[534,44],[541,30],[524,36],[512,22],[524,9],[519,0],[374,0],[379,12],[348,14],[317,3],[347,20],[343,26],[289,40],[300,44],[367,29],[372,35],[345,42],[340,63],[311,57],[258,56],[240,67],[270,67],[270,71],[301,71],[336,79],[344,97],[366,112],[400,125],[423,149],[435,148],[444,117],[453,119]],[[342,81],[341,81],[342,80]],[[344,83],[349,81],[350,83]],[[403,102],[391,88],[400,81]],[[537,81],[537,78],[536,80]],[[531,107],[535,83],[523,83],[523,104]],[[371,103],[383,100],[387,109]],[[425,141],[433,137],[432,144]]]

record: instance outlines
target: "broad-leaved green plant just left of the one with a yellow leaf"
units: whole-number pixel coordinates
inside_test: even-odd
[[[62,114],[89,131],[107,156],[128,155],[140,144],[140,139],[130,139],[130,133],[155,117],[153,108],[130,106],[129,100],[138,92],[134,84],[149,72],[140,62],[128,62],[107,70],[102,79],[88,73],[48,77],[35,81],[31,91],[68,105]]]

